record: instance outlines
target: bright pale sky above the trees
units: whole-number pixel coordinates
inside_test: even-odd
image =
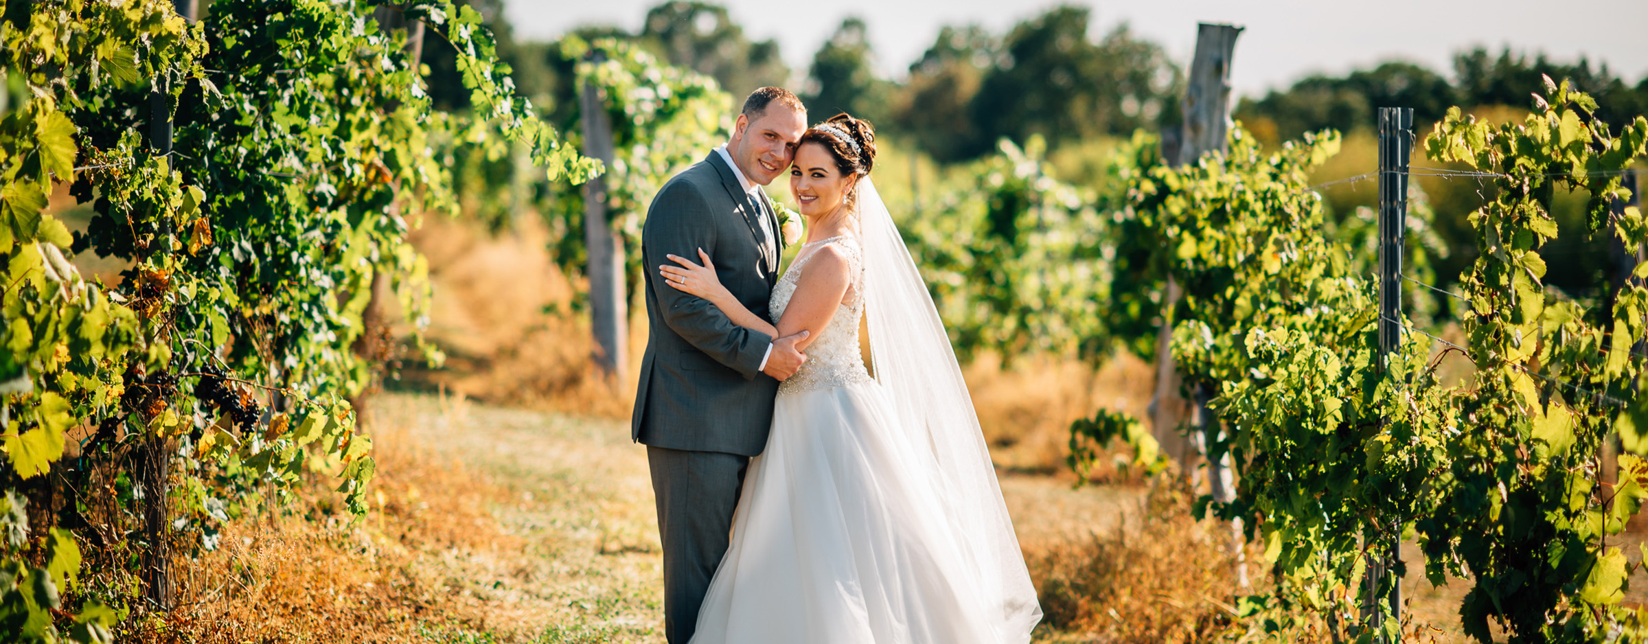
[[[550,40],[580,25],[641,26],[661,0],[504,0],[522,40]],[[870,26],[878,66],[903,77],[939,26],[979,23],[1005,33],[1055,0],[720,0],[753,40],[773,38],[791,68],[804,72],[842,18]],[[1470,46],[1495,54],[1505,44],[1571,61],[1580,54],[1636,84],[1648,74],[1645,0],[1070,0],[1093,8],[1093,36],[1127,21],[1167,46],[1180,64],[1195,49],[1196,23],[1246,26],[1236,41],[1231,81],[1238,94],[1262,94],[1310,72],[1345,72],[1401,58],[1452,76],[1452,56]]]

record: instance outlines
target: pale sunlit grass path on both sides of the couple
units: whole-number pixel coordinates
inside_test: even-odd
[[[653,491],[628,423],[405,394],[376,413],[384,448],[485,478],[473,502],[499,530],[481,547],[425,548],[414,563],[480,616],[432,628],[430,639],[664,641]],[[1103,530],[1137,506],[1134,491],[1076,491],[1046,476],[1005,476],[1002,489],[1025,544]]]

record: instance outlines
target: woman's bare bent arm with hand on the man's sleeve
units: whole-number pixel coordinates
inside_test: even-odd
[[[709,300],[733,324],[761,331],[773,338],[809,331],[806,338],[796,341],[796,351],[806,349],[817,339],[819,331],[829,326],[840,301],[847,296],[847,288],[852,285],[847,275],[847,255],[834,245],[817,249],[814,257],[808,260],[808,270],[801,272],[801,278],[796,280],[796,293],[789,298],[789,305],[784,306],[784,316],[775,328],[766,320],[761,320],[761,316],[750,313],[742,301],[727,292],[727,287],[722,287],[709,255],[699,250],[699,257],[704,260],[702,267],[687,259],[669,255],[681,267],[664,265],[659,267],[659,272],[664,273],[671,287]]]

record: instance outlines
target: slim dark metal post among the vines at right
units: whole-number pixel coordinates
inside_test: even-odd
[[[1379,366],[1402,344],[1402,255],[1407,239],[1407,161],[1414,153],[1412,107],[1379,107]],[[1379,583],[1401,570],[1401,535],[1389,544],[1368,547],[1368,583],[1363,619],[1379,637]],[[1402,583],[1391,580],[1391,614],[1401,624]]]

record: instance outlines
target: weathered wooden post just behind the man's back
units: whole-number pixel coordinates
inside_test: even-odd
[[[592,49],[590,63],[602,63],[606,53]],[[613,163],[613,125],[600,87],[583,84],[583,156]],[[621,384],[628,361],[630,315],[625,298],[623,240],[606,217],[606,178],[583,184],[583,244],[588,252],[585,273],[590,278],[590,326],[595,334],[595,366]]]

